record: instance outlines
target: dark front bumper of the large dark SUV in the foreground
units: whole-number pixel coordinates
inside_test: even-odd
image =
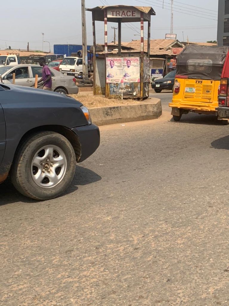
[[[85,125],[73,128],[72,131],[78,136],[81,144],[81,157],[79,162],[83,162],[92,155],[100,145],[100,130],[94,125]]]

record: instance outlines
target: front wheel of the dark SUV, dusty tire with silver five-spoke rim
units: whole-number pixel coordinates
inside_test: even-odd
[[[49,200],[68,188],[75,167],[75,152],[67,138],[56,132],[39,132],[17,150],[10,177],[24,196]]]

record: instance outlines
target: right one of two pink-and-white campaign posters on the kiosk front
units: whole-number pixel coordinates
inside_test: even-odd
[[[123,82],[140,82],[140,58],[124,57],[123,58]]]

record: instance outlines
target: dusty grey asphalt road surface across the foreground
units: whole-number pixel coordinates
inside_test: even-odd
[[[67,192],[0,186],[1,306],[229,304],[229,126],[214,116],[101,127]]]

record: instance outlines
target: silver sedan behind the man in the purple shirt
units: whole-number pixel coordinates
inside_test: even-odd
[[[53,68],[50,68],[50,70],[52,74],[53,91],[60,92],[61,94],[78,93],[79,88],[75,84],[76,80],[74,77],[65,76],[63,73]],[[33,87],[35,84],[35,75],[38,74],[38,80],[42,77],[42,67],[32,64],[0,66],[0,76],[4,84],[13,83],[13,73],[15,73],[15,85]],[[39,85],[40,84],[38,84],[38,86]],[[42,88],[42,86],[40,88]]]

